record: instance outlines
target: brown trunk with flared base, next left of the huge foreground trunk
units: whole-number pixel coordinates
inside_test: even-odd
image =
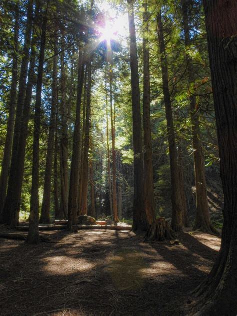
[[[189,49],[191,44],[189,17],[188,17],[189,0],[182,0],[183,29],[185,36],[185,46]],[[194,69],[191,57],[186,53],[188,85],[191,86],[194,81]],[[192,143],[196,182],[196,220],[194,230],[199,229],[209,233],[216,233],[216,230],[210,223],[209,206],[207,199],[207,189],[205,180],[205,163],[202,152],[202,143],[200,140],[198,104],[195,95],[191,94],[189,98],[190,114],[192,124]]]

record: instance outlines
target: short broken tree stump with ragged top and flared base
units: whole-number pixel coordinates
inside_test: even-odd
[[[156,219],[145,236],[145,241],[165,241],[175,240],[175,235],[172,228],[164,217]]]

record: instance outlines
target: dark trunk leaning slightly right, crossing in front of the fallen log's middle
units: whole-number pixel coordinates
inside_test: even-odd
[[[73,134],[73,147],[71,159],[71,173],[70,173],[70,190],[68,202],[68,230],[72,230],[72,225],[77,224],[77,209],[78,209],[78,184],[79,184],[79,167],[80,167],[80,112],[81,99],[84,82],[84,64],[83,64],[83,50],[82,47],[79,52],[78,62],[78,78],[77,78],[77,101],[76,101],[76,118]]]

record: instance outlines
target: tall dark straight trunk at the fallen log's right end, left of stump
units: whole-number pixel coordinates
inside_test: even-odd
[[[136,45],[136,31],[134,22],[133,0],[127,0],[128,21],[130,35],[130,68],[132,94],[132,128],[134,152],[134,202],[133,202],[133,231],[147,231],[148,220],[145,211],[144,196],[144,167],[143,145],[140,113],[140,88],[138,73],[138,57]]]

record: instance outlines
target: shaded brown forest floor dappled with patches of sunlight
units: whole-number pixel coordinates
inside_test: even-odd
[[[218,237],[145,243],[130,231],[44,232],[37,246],[0,238],[0,315],[186,315]]]

